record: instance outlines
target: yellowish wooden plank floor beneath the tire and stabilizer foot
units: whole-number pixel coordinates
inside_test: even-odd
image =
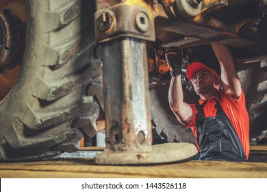
[[[267,178],[267,163],[189,160],[162,165],[94,165],[92,158],[0,163],[1,178]]]

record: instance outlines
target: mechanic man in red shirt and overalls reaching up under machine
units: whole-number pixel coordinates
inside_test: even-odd
[[[169,104],[177,119],[196,137],[199,160],[245,161],[249,157],[249,115],[245,96],[227,46],[213,43],[221,76],[201,62],[188,66],[186,75],[200,96],[199,105],[183,101],[181,50],[166,49],[172,75]]]

